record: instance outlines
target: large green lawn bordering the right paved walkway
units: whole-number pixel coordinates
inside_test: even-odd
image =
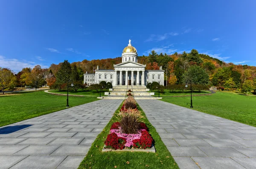
[[[183,107],[190,107],[190,97],[164,97],[161,99]],[[193,110],[227,118],[256,127],[256,96],[216,92],[208,96],[192,97]]]

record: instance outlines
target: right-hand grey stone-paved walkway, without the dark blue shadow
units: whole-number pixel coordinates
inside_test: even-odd
[[[256,127],[164,101],[137,103],[180,169],[256,168]]]

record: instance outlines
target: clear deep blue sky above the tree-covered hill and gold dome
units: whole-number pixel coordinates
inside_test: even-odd
[[[0,67],[15,72],[67,59],[139,56],[197,49],[256,65],[255,0],[1,0]]]

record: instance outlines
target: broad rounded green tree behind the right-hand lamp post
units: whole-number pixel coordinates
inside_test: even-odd
[[[200,66],[193,65],[183,74],[183,82],[186,83],[187,80],[191,80],[195,85],[208,85],[209,75]]]

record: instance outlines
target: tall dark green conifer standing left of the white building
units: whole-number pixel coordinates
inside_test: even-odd
[[[72,68],[70,62],[64,60],[57,72],[57,82],[67,83],[71,77]]]

